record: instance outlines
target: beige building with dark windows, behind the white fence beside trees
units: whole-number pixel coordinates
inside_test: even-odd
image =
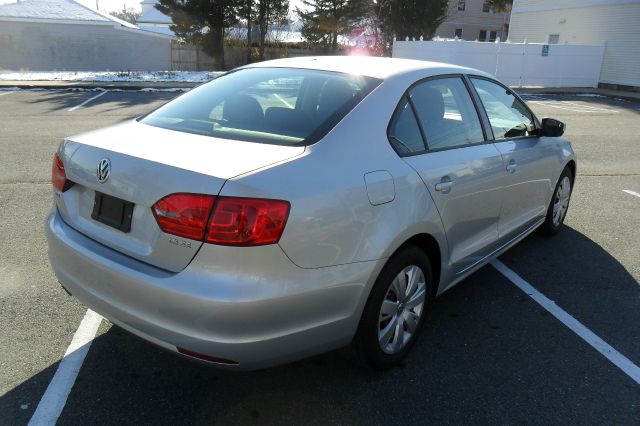
[[[483,0],[449,0],[447,19],[436,30],[436,37],[463,40],[505,40],[509,12],[493,12]]]

